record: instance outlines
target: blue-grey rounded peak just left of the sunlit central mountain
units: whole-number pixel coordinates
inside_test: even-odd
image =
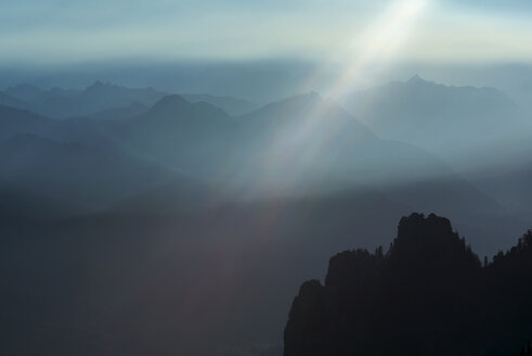
[[[176,169],[205,174],[221,164],[218,160],[231,144],[232,123],[217,106],[191,103],[173,94],[124,123],[117,137],[128,152]]]

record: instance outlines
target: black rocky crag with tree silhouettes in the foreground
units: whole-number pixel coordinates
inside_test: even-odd
[[[386,254],[342,252],[304,282],[284,340],[285,356],[519,355],[531,336],[532,231],[482,264],[446,218],[412,214]]]

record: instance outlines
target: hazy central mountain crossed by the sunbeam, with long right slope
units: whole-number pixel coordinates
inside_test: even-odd
[[[309,194],[321,187],[368,186],[410,206],[456,218],[468,214],[466,206],[477,214],[502,213],[496,202],[434,155],[380,139],[316,93],[267,105],[238,123],[238,142],[246,152],[256,152],[247,161],[261,173],[262,189],[271,185],[276,191]]]

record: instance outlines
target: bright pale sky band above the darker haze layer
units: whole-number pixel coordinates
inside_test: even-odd
[[[2,0],[0,66],[297,58],[532,62],[530,0]],[[347,76],[349,77],[349,76]]]

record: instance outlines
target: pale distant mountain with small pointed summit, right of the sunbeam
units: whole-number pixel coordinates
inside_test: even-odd
[[[493,88],[447,87],[412,77],[355,92],[342,103],[384,138],[441,156],[519,132],[516,104]]]

